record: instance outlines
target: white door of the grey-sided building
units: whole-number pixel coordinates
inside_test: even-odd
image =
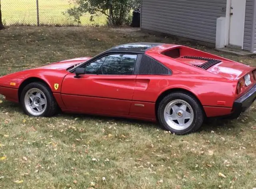
[[[231,0],[229,44],[242,47],[246,0]]]

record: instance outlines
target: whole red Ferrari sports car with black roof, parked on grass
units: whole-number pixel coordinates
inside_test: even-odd
[[[0,77],[31,116],[64,112],[158,121],[173,133],[205,117],[238,117],[256,98],[256,68],[172,44],[132,43]]]

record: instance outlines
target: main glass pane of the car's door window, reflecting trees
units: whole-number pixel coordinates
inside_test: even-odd
[[[106,56],[102,65],[104,75],[132,75],[136,54],[113,54]]]

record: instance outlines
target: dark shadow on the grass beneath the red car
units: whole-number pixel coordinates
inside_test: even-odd
[[[0,107],[0,112],[9,113],[10,115],[18,113],[24,114],[22,107],[18,103],[3,100]],[[24,114],[24,116],[26,116]],[[128,119],[122,117],[106,117],[101,115],[89,115],[89,114],[76,114],[76,113],[63,113],[59,112],[54,117],[59,119],[75,119],[78,118],[82,121],[90,122],[105,122],[105,123],[119,123],[123,125],[135,125],[143,129],[161,129],[166,130],[158,122],[143,121],[139,119]],[[223,118],[210,118],[204,121],[202,127],[199,129],[200,133],[220,132],[227,135],[236,135],[240,132],[240,122],[237,119],[223,119]]]

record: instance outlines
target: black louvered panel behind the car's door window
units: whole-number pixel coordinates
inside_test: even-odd
[[[140,65],[138,68],[138,74],[141,75],[171,75],[172,71],[161,64],[160,62],[154,60],[153,58],[142,55]]]

